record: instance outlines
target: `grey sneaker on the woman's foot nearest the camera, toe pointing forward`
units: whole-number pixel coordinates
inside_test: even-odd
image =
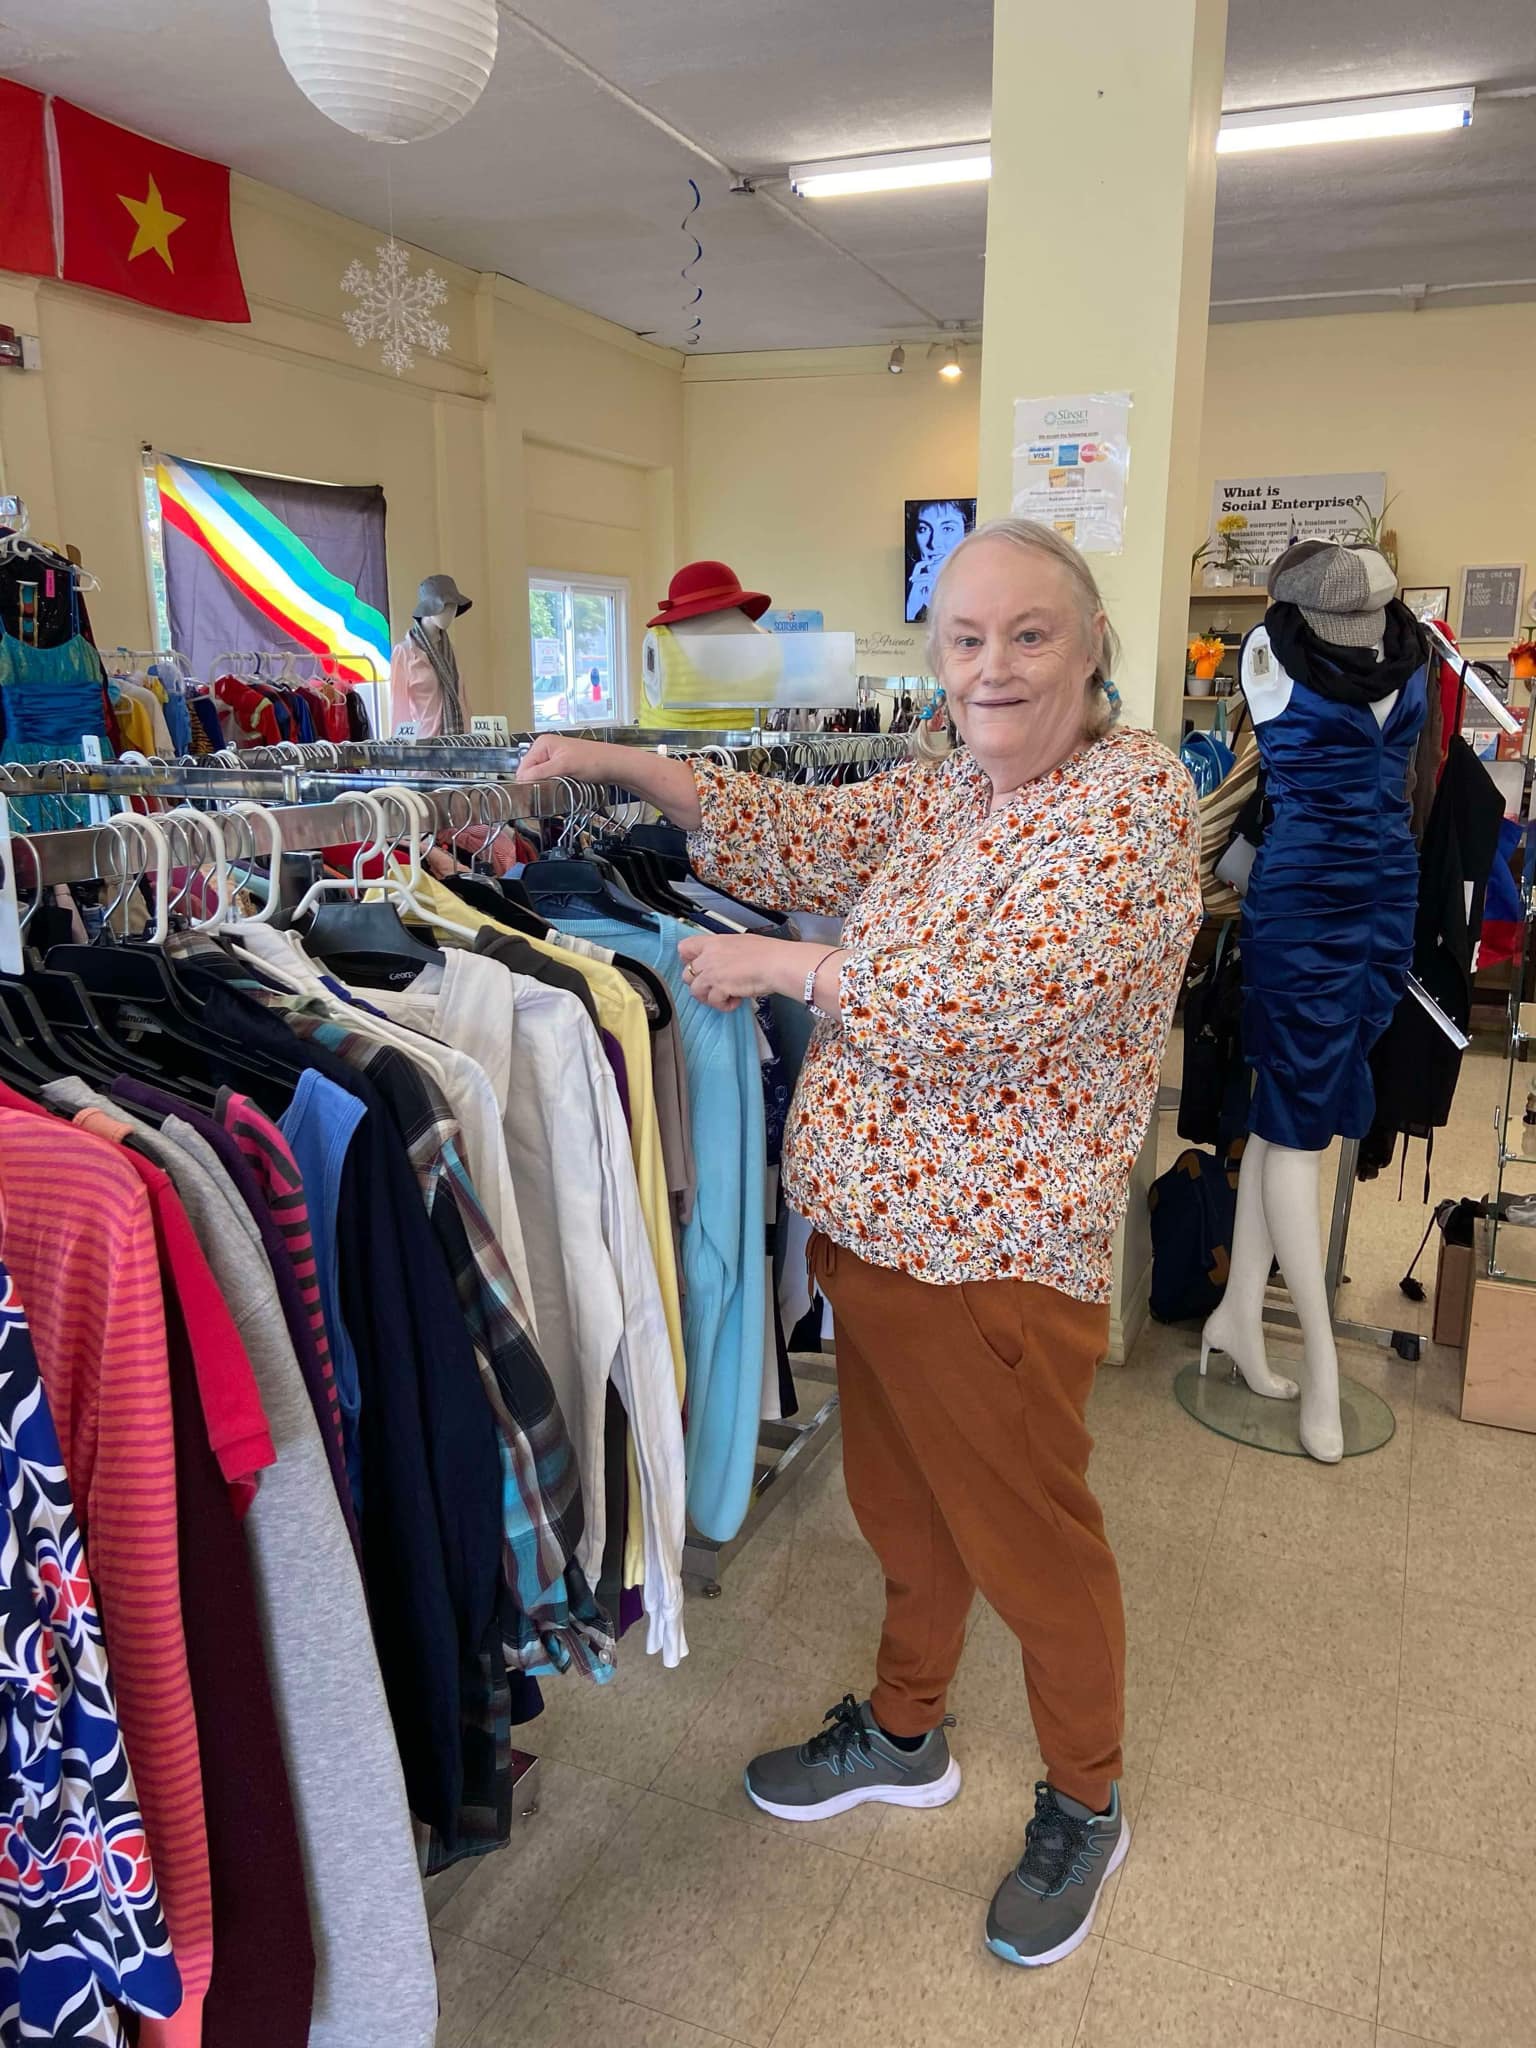
[[[1120,1812],[1118,1786],[1110,1810],[1094,1815],[1038,1784],[1024,1860],[997,1886],[987,1913],[987,1948],[1026,1968],[1071,1956],[1092,1933],[1104,1880],[1128,1849],[1130,1823]]]

